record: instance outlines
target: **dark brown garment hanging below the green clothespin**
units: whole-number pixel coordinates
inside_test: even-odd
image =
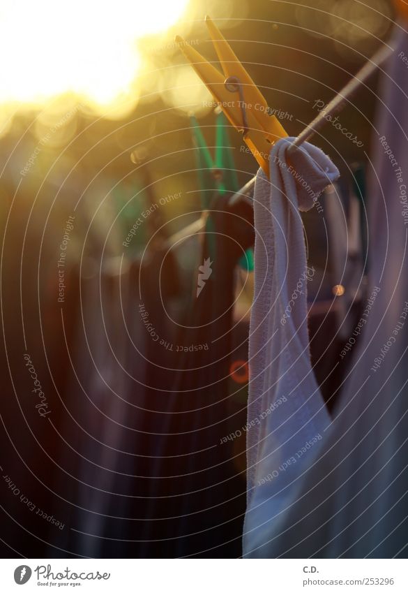
[[[198,265],[208,260],[211,247],[216,257],[198,297],[195,274],[190,309],[177,339],[186,350],[173,359],[174,381],[162,396],[163,414],[157,420],[162,434],[156,436],[151,461],[151,508],[139,532],[148,557],[241,555],[245,482],[237,475],[230,442],[222,438],[231,430],[236,262],[253,243],[253,226],[252,208],[245,203],[229,208],[228,198],[218,196],[213,203],[214,234],[204,236]]]

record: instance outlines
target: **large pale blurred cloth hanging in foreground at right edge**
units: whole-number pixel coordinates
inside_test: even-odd
[[[252,521],[247,555],[407,557],[407,33],[394,41],[373,135],[370,284],[351,336],[361,342],[347,350],[352,369],[324,441],[282,512]]]

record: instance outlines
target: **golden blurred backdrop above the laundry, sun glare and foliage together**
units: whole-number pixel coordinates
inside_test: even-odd
[[[370,5],[227,0],[222,6],[215,0],[175,0],[171,5],[137,2],[132,8],[117,2],[98,13],[71,3],[63,14],[47,1],[30,8],[6,3],[0,22],[7,57],[0,67],[1,205],[6,212],[20,182],[14,207],[30,212],[32,206],[31,224],[36,216],[44,221],[47,212],[47,224],[41,225],[47,240],[54,221],[63,221],[78,200],[86,202],[91,217],[96,214],[90,232],[102,230],[109,249],[119,254],[118,200],[126,203],[144,188],[146,175],[154,196],[169,193],[172,186],[183,191],[183,200],[163,210],[165,217],[198,205],[187,116],[199,118],[211,144],[213,108],[174,35],[183,35],[216,63],[204,24],[207,13],[271,108],[282,111],[292,135],[317,115],[315,101],[326,103],[387,38],[393,20],[387,0]],[[374,105],[372,91],[361,89],[342,114],[342,124],[365,147]],[[361,149],[333,126],[326,126],[323,135],[325,148],[335,142],[339,166],[342,160],[361,159]],[[231,137],[236,169],[245,182],[255,173],[255,163],[240,150],[238,133],[232,130]],[[113,219],[107,219],[107,210]],[[20,224],[25,228],[22,212]]]

